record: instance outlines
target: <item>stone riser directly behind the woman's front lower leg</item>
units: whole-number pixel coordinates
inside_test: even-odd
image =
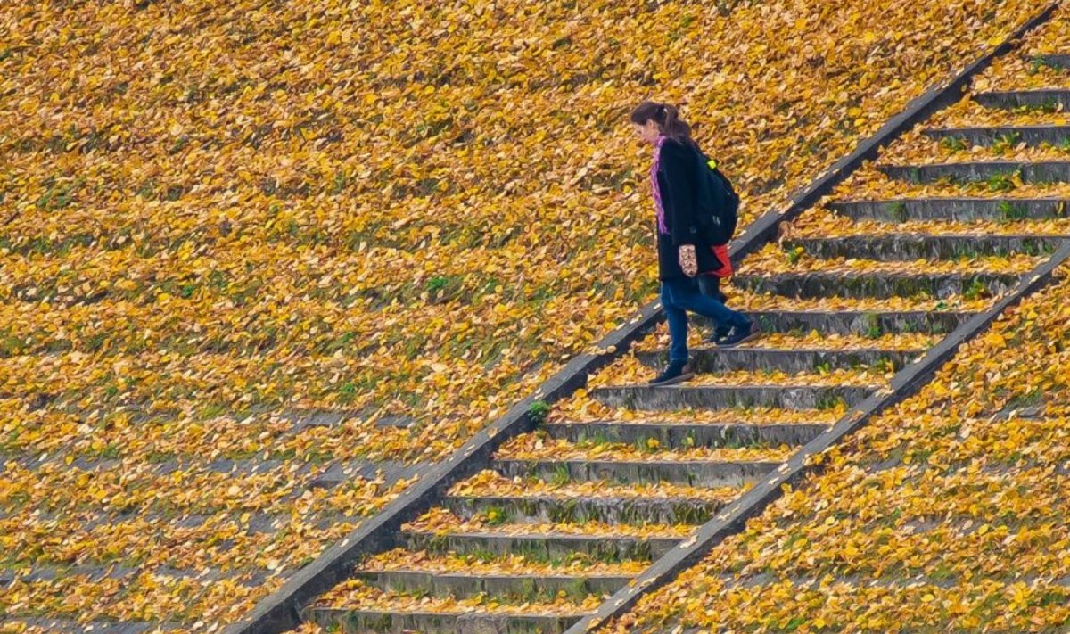
[[[723,373],[742,369],[796,373],[819,367],[829,369],[867,367],[884,364],[889,369],[908,365],[923,350],[829,350],[781,348],[691,348],[691,367],[698,373]],[[662,367],[669,362],[666,350],[637,352],[636,358],[651,367]]]

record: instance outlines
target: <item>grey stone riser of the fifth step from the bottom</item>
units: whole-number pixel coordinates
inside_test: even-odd
[[[778,466],[779,463],[773,462],[494,462],[494,467],[508,478],[539,478],[547,482],[556,479],[608,480],[621,484],[671,482],[689,486],[743,486]]]

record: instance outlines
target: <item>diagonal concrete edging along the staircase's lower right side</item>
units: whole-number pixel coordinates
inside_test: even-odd
[[[773,471],[767,480],[755,484],[713,519],[702,525],[694,535],[651,564],[636,577],[635,583],[606,600],[595,613],[569,628],[566,634],[590,632],[624,616],[644,594],[672,582],[681,572],[697,564],[706,553],[725,538],[742,531],[749,518],[760,514],[783,494],[783,485],[796,484],[820,469],[820,462],[811,461],[813,456],[866,426],[885,409],[912,396],[954,356],[962,344],[988,330],[1004,311],[1017,305],[1024,297],[1048,286],[1055,278],[1055,269],[1068,260],[1070,260],[1070,240],[1063,240],[1058,251],[1029,271],[1012,291],[985,312],[975,315],[957,328],[921,359],[896,373],[889,388],[849,409],[835,425],[802,446],[788,462]]]

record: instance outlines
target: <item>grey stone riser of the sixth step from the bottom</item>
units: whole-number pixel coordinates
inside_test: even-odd
[[[806,444],[828,426],[821,423],[670,423],[599,421],[593,423],[546,423],[551,438],[570,442],[602,441],[646,446],[655,439],[664,449],[745,444]]]

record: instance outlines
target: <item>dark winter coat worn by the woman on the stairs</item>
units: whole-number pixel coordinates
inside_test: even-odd
[[[667,138],[661,144],[658,165],[658,191],[664,209],[668,235],[658,235],[658,277],[674,280],[686,277],[679,267],[679,247],[693,244],[699,262],[699,274],[719,270],[723,265],[710,251],[696,218],[696,191],[699,162],[696,150],[686,144]],[[655,225],[656,226],[656,225]]]

